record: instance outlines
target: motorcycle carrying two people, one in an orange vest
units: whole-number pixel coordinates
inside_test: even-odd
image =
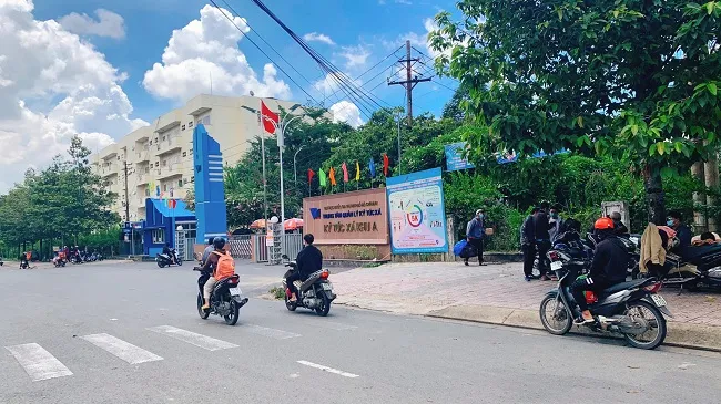
[[[247,298],[241,298],[240,277],[234,274],[217,282],[211,292],[211,308],[203,310],[203,287],[211,277],[212,271],[203,271],[200,267],[195,267],[193,270],[201,272],[197,278],[197,314],[201,319],[206,320],[211,314],[215,314],[221,315],[226,324],[235,325],[241,308],[247,303]]]

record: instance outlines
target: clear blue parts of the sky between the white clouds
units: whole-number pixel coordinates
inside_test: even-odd
[[[225,7],[222,0],[216,0],[216,2],[219,6]],[[303,76],[311,82],[323,79],[323,74],[315,62],[255,4],[250,0],[232,0],[227,2],[241,17],[247,20],[254,32],[268,41],[286,60],[293,61],[294,66]],[[98,51],[102,52],[113,66],[128,73],[129,77],[121,86],[132,102],[134,111],[132,116],[150,122],[176,105],[181,100],[169,100],[150,94],[143,86],[143,76],[152,68],[153,63],[160,62],[172,31],[185,27],[192,20],[199,19],[199,12],[205,4],[209,4],[209,2],[200,0],[126,0],[112,2],[106,0],[37,0],[34,15],[38,20],[58,20],[74,12],[95,18],[94,11],[97,9],[105,9],[121,15],[125,25],[125,37],[123,39],[98,35],[87,35],[83,39],[90,41]],[[311,44],[316,51],[342,69],[346,66],[346,60],[339,55],[343,48],[363,46],[362,49],[369,53],[366,63],[344,69],[349,74],[355,75],[365,72],[377,61],[388,55],[393,51],[390,46],[400,45],[405,35],[414,33],[419,39],[425,37],[427,32],[424,25],[425,21],[433,18],[438,10],[453,9],[453,1],[428,2],[416,0],[385,0],[382,2],[377,0],[266,0],[266,4],[296,33],[303,35],[309,32],[318,32],[329,37],[336,45],[328,45],[317,41],[311,42]],[[257,37],[253,35],[253,33],[250,35],[257,42]],[[429,53],[420,44],[416,44],[416,48],[426,54]],[[245,39],[241,40],[240,50],[245,54],[255,72],[262,72],[263,65],[271,62]],[[307,82],[285,65],[277,55],[271,52],[268,54],[292,75],[293,80],[304,85],[305,90],[316,100],[323,97],[323,94],[311,89]],[[365,77],[369,79],[377,75],[382,69],[388,69],[390,64],[390,60],[388,60],[366,74]],[[377,79],[367,83],[367,87],[375,86],[388,74],[389,72],[380,73]],[[278,72],[277,77],[291,86],[294,99],[305,100],[307,97],[283,73]],[[447,80],[443,80],[440,83],[455,87],[455,83]],[[404,103],[404,91],[399,86],[388,87],[382,84],[373,93],[390,105]],[[451,91],[431,82],[419,84],[414,95],[414,110],[416,113],[430,111],[439,114],[443,104],[450,97]],[[332,104],[335,101],[338,100],[333,97],[326,101],[326,104]],[[366,117],[362,116],[362,118],[365,120]]]

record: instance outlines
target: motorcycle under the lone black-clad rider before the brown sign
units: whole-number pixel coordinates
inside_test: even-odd
[[[283,256],[288,259],[287,256]],[[283,290],[285,290],[285,308],[288,311],[295,311],[297,308],[305,308],[315,310],[321,317],[328,315],[331,311],[331,303],[335,300],[336,296],[333,293],[333,284],[328,281],[331,272],[327,269],[313,272],[305,282],[295,281],[295,288],[298,291],[296,301],[291,301],[291,289],[287,286],[286,279],[298,270],[295,261],[288,261],[285,265],[290,268],[283,276]]]

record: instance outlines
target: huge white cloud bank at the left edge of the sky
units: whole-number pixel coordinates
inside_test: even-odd
[[[0,0],[0,193],[28,167],[64,154],[78,134],[93,149],[139,125],[120,86],[125,74],[53,20],[38,21],[31,0]]]

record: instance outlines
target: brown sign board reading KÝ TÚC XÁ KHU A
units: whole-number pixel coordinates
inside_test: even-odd
[[[316,245],[388,245],[388,203],[383,188],[303,199],[303,232]]]

